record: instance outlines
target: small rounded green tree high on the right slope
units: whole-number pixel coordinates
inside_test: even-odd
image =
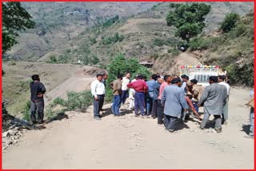
[[[226,14],[223,22],[221,23],[221,29],[223,32],[227,33],[232,30],[236,23],[240,20],[240,16],[236,13]]]

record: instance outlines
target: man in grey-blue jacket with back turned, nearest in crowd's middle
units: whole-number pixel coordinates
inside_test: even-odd
[[[166,86],[162,93],[161,103],[164,106],[164,122],[166,129],[174,132],[177,128],[178,117],[182,114],[182,108],[186,112],[186,100],[184,91],[180,88],[181,79],[174,78],[171,85]]]

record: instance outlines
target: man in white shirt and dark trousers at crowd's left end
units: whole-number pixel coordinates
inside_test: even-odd
[[[91,93],[94,97],[94,119],[101,120],[99,112],[102,110],[105,97],[105,85],[102,83],[102,74],[96,75],[96,80],[91,83]]]

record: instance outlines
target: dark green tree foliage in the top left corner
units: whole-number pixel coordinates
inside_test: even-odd
[[[18,31],[34,28],[31,18],[20,2],[2,3],[2,54],[18,43]]]

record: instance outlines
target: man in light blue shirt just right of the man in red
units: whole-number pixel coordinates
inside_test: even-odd
[[[154,84],[156,83],[157,75],[153,74],[150,77],[150,81],[146,82],[146,85],[149,87],[148,92],[146,93],[146,116],[150,117],[152,111],[153,99],[154,99]]]

